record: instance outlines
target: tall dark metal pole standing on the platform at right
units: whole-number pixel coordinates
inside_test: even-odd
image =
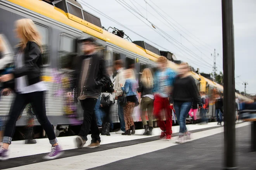
[[[235,58],[232,0],[222,0],[224,80],[224,168],[235,167]]]

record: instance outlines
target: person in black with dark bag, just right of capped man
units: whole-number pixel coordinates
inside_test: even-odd
[[[108,75],[109,75],[109,82],[107,82],[106,85],[102,87],[101,90],[101,100],[100,100],[100,105],[101,109],[104,111],[104,117],[102,121],[102,132],[101,135],[107,135],[110,136],[110,126],[111,126],[111,107],[114,104],[114,95],[113,93],[116,92],[114,90],[114,84],[113,84],[113,71],[111,70],[112,68],[109,67],[107,69]]]

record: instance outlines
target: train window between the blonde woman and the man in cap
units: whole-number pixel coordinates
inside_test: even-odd
[[[62,35],[61,36],[61,51],[60,51],[60,67],[62,69],[72,70],[75,64],[76,57],[76,41],[75,37]]]

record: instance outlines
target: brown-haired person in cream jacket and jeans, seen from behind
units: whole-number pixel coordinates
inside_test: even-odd
[[[123,69],[123,61],[122,60],[116,60],[114,67],[117,71],[116,80],[114,89],[116,90],[115,93],[115,100],[118,102],[118,119],[121,125],[121,129],[117,131],[117,134],[121,134],[125,132],[125,119],[124,119],[124,112],[123,112],[123,106],[119,104],[120,98],[123,94],[123,90],[121,89],[121,84],[125,84],[125,78],[123,75],[124,69]]]

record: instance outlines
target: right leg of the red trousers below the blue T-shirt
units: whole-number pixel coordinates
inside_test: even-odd
[[[169,100],[165,98],[163,101],[163,104],[164,104],[164,113],[165,113],[165,119],[166,119],[166,136],[167,135],[171,136],[171,134],[173,133],[173,131],[171,130],[171,127],[173,125],[173,120],[172,120],[172,112],[170,109]]]

